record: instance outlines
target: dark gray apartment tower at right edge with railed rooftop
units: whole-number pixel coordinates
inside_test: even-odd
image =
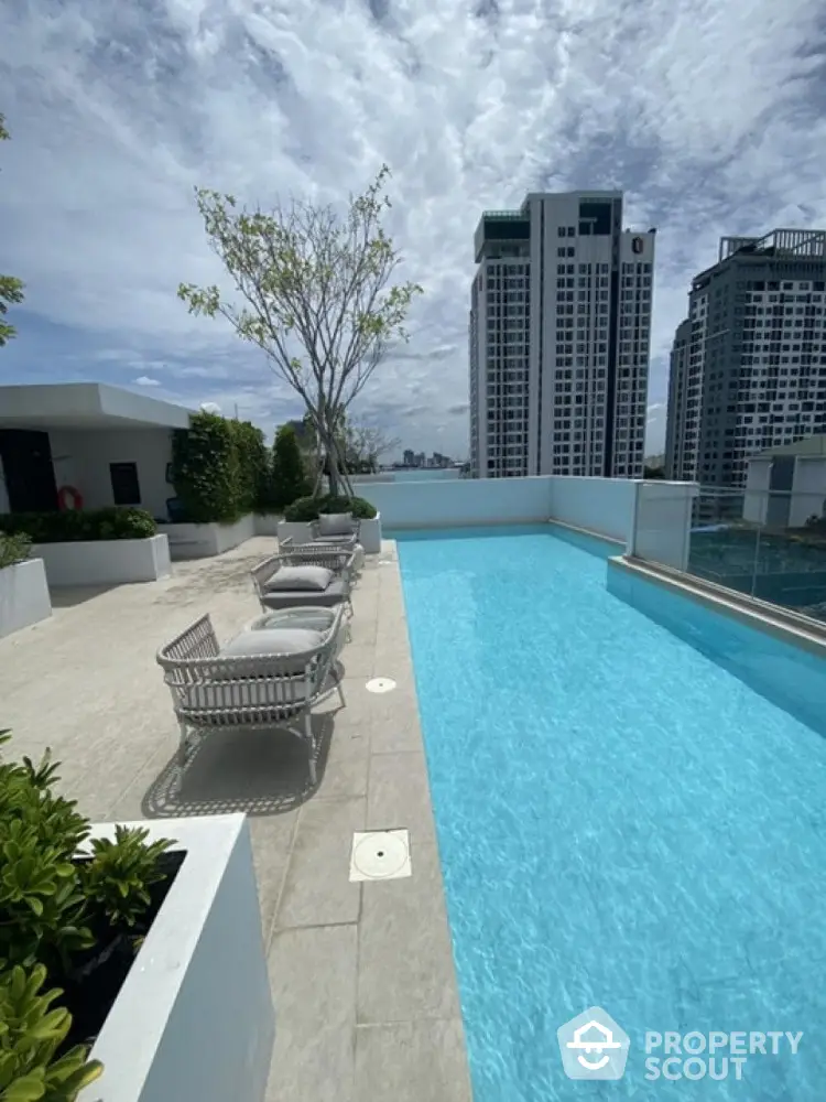
[[[826,230],[724,237],[675,335],[665,473],[746,484],[754,452],[826,431]]]

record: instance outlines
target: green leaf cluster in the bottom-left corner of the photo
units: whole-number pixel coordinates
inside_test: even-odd
[[[104,1070],[83,1045],[57,1056],[72,1016],[52,1008],[62,992],[41,993],[45,980],[42,964],[0,973],[0,1102],[74,1102]]]

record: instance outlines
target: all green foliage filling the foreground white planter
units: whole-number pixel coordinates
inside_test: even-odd
[[[0,747],[9,738],[0,731]],[[72,1016],[52,1005],[63,992],[41,988],[95,949],[93,928],[133,927],[145,915],[172,844],[118,827],[78,861],[89,822],[52,791],[56,770],[48,752],[37,766],[0,759],[0,1102],[74,1102],[100,1076],[85,1046],[65,1050]]]

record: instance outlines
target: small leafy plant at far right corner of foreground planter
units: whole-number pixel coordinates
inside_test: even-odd
[[[149,888],[164,878],[159,857],[172,842],[159,839],[146,844],[148,836],[141,827],[116,827],[113,841],[91,840],[93,860],[80,866],[84,895],[112,925],[134,926],[152,901]]]

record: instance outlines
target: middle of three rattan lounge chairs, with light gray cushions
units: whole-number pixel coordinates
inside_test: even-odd
[[[264,559],[250,573],[264,611],[344,604],[351,613],[352,572],[351,551],[296,549]]]

